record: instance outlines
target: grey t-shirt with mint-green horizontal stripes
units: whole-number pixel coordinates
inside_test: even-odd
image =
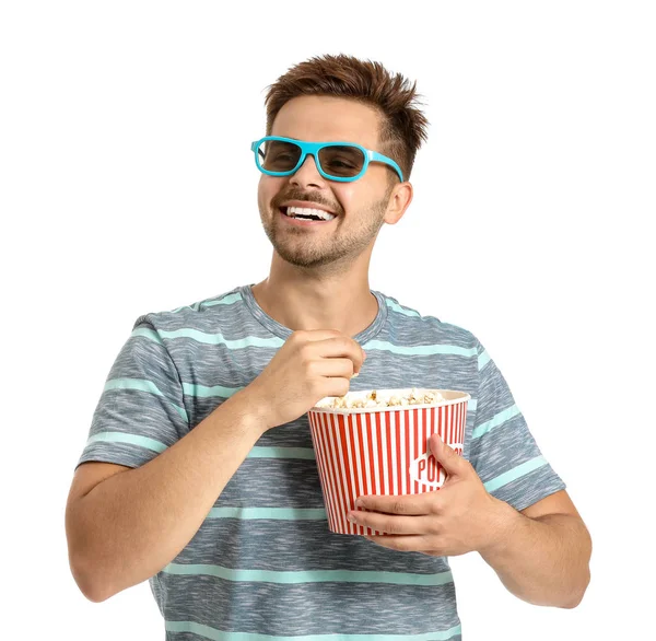
[[[523,510],[564,489],[479,340],[372,293],[378,314],[353,337],[367,359],[351,389],[467,392],[464,456],[488,491]],[[291,334],[250,285],[140,316],[80,463],[148,463],[258,376]],[[462,633],[446,558],[328,529],[307,415],[260,438],[194,538],[149,582],[175,641],[458,641]]]

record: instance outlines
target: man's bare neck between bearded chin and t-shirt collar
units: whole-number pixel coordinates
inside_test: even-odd
[[[309,272],[273,253],[269,278],[251,288],[259,306],[292,331],[337,329],[353,337],[378,313],[370,291],[368,259],[340,273]]]

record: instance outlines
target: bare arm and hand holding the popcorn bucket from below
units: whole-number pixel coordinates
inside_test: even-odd
[[[365,496],[350,520],[393,536],[368,536],[406,552],[478,551],[505,587],[534,605],[576,607],[590,580],[590,535],[565,490],[520,512],[488,492],[477,471],[436,434],[431,453],[447,478],[438,492]]]

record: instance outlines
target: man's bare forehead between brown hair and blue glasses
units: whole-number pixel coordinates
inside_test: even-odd
[[[380,116],[374,107],[335,96],[298,96],[273,121],[272,136],[312,142],[358,142],[377,149]]]

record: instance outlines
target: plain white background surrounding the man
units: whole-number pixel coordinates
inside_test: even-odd
[[[2,3],[2,637],[164,637],[148,583],[78,590],[73,468],[139,315],[267,276],[265,89],[348,53],[431,121],[371,287],[483,342],[594,539],[573,610],[452,558],[464,638],[651,638],[655,32],[630,1]]]

